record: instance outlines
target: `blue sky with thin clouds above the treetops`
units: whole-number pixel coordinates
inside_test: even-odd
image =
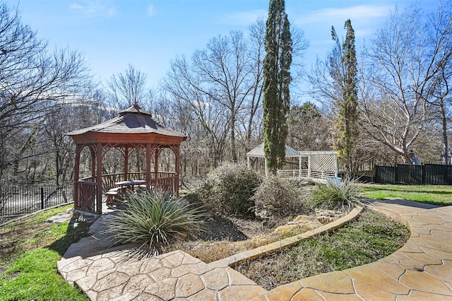
[[[268,0],[6,0],[18,6],[23,23],[57,47],[85,54],[95,78],[105,81],[129,64],[148,76],[155,87],[177,54],[191,57],[210,38],[242,30],[258,16],[266,18]],[[343,35],[352,20],[357,46],[381,28],[396,5],[410,0],[286,0],[293,25],[304,30],[310,46],[308,69],[316,57],[324,59],[333,46],[331,25]],[[438,1],[420,2],[426,11]]]

